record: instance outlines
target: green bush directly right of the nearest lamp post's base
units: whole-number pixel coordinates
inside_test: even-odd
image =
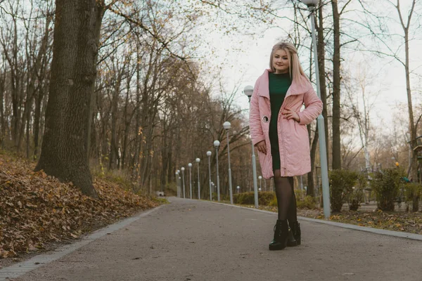
[[[330,201],[332,211],[341,211],[343,204],[352,194],[353,186],[359,178],[359,174],[350,170],[329,171]]]

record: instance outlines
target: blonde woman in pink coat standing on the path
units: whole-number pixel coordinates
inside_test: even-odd
[[[276,44],[269,67],[255,83],[249,122],[262,176],[274,178],[279,217],[269,249],[278,250],[301,242],[293,176],[311,171],[306,125],[321,114],[322,103],[300,66],[293,44]]]

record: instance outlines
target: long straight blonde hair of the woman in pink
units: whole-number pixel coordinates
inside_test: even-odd
[[[279,42],[275,44],[271,51],[271,56],[269,57],[269,68],[271,68],[272,72],[276,72],[274,65],[273,65],[273,57],[274,53],[279,50],[284,50],[287,53],[289,67],[288,70],[290,72],[290,79],[292,82],[301,83],[302,78],[307,78],[305,72],[300,65],[299,57],[298,57],[298,50],[295,46],[289,42]]]

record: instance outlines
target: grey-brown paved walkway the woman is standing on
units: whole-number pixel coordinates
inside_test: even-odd
[[[269,251],[276,214],[170,201],[13,280],[422,280],[420,241],[300,221],[301,246]]]

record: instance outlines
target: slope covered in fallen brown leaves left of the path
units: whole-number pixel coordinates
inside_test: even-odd
[[[72,184],[34,172],[34,163],[0,153],[0,257],[44,249],[158,206],[120,185],[94,178],[98,200]]]

